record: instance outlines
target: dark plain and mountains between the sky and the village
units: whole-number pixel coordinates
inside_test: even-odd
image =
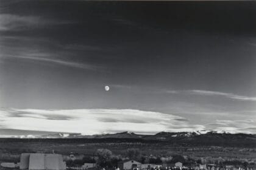
[[[71,152],[93,155],[99,148],[116,155],[127,149],[140,149],[144,155],[189,155],[190,157],[226,157],[253,159],[256,157],[256,137],[249,134],[207,134],[160,132],[137,135],[129,132],[76,136],[72,138],[0,138],[1,160],[16,160],[23,152],[48,152],[68,155]]]

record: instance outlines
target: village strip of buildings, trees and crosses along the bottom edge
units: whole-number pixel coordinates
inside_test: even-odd
[[[173,155],[154,157],[141,155],[138,149],[127,149],[126,157],[112,155],[108,149],[98,149],[91,156],[71,152],[69,155],[23,153],[19,162],[2,162],[0,169],[20,170],[253,170],[255,163],[238,160],[207,161]],[[255,161],[255,160],[254,160]]]

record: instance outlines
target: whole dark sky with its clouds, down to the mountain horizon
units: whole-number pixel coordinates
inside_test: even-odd
[[[0,133],[256,133],[255,9],[1,1]]]

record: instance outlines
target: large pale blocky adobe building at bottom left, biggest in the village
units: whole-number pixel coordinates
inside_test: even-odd
[[[20,169],[64,170],[66,163],[60,154],[21,154]]]

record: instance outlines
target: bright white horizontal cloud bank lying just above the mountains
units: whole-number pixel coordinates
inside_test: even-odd
[[[183,117],[134,109],[5,109],[0,127],[33,131],[79,132],[86,135],[132,131],[155,134],[160,131],[194,131],[204,126],[190,124]]]

